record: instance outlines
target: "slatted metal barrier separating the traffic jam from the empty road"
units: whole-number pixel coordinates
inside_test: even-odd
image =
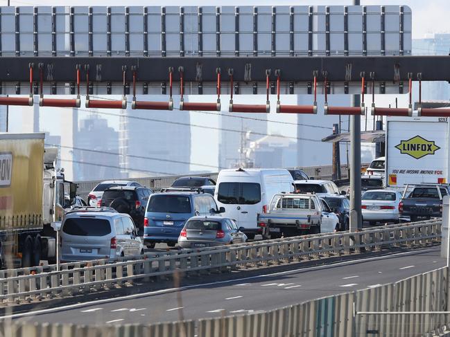
[[[101,263],[62,271],[31,273],[0,280],[0,300],[31,302],[90,291],[108,290],[135,280],[172,277],[182,273],[221,273],[237,268],[259,268],[338,255],[381,251],[391,247],[431,245],[440,241],[442,221],[433,219],[397,224],[358,233],[332,233],[288,237],[262,242],[235,244],[173,252],[158,257],[142,256],[126,262]]]

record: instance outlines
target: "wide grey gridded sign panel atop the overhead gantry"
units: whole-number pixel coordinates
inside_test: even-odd
[[[2,57],[102,57],[97,64],[104,66],[107,57],[370,57],[411,53],[408,6],[1,7],[0,21]],[[226,76],[227,69],[222,71]],[[355,91],[358,80],[349,81],[350,88],[355,84]],[[138,76],[138,90],[143,82],[146,79]],[[112,82],[113,89],[116,84]],[[214,84],[210,84],[202,83],[202,93],[214,91]],[[292,83],[283,85],[287,88]],[[336,91],[344,90],[343,83],[331,85]],[[62,84],[56,86],[62,93]],[[106,90],[106,86],[95,86]],[[153,87],[161,91],[160,82],[150,80],[147,86],[150,91]],[[293,86],[295,93],[307,91],[305,82]],[[252,84],[241,87],[254,92]],[[389,87],[386,84],[386,92]],[[188,91],[191,88],[187,86]],[[397,84],[393,88],[398,92]]]

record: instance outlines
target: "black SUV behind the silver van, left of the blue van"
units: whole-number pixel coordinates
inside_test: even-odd
[[[139,232],[144,233],[144,214],[150,194],[153,194],[150,188],[115,186],[103,192],[100,206],[114,208],[119,213],[130,215]]]

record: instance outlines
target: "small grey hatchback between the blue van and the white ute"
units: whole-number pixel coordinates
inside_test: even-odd
[[[181,248],[202,248],[246,242],[236,222],[225,217],[191,217],[178,237]]]

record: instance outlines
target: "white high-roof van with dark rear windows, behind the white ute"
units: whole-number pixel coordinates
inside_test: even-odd
[[[224,207],[224,217],[236,220],[249,239],[260,233],[257,214],[266,212],[272,197],[293,192],[294,181],[288,170],[232,169],[222,170],[217,177],[214,199]]]

